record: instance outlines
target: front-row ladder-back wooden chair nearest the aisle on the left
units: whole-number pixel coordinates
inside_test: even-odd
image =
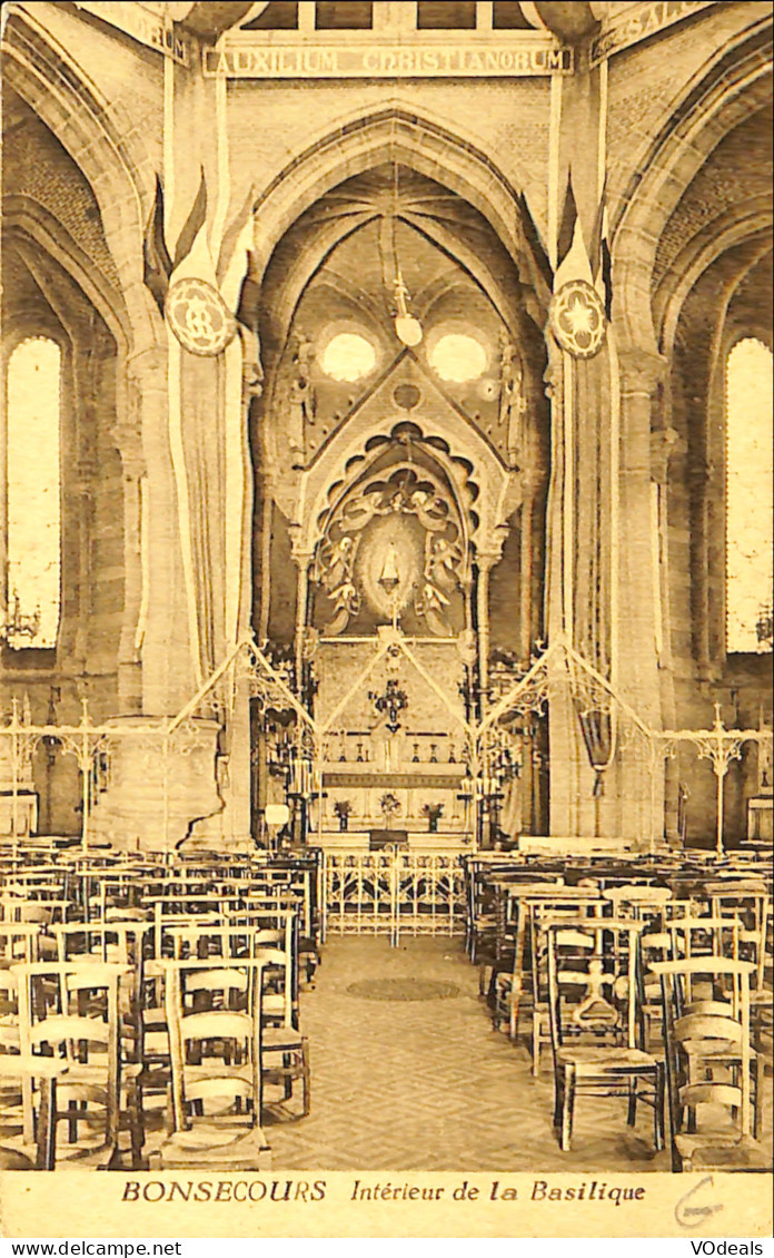
[[[264,962],[224,960],[215,970],[201,960],[163,965],[172,1133],[158,1161],[163,1169],[264,1170],[270,1165],[260,1127]]]

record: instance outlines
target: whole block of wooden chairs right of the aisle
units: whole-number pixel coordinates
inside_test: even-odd
[[[632,1125],[638,1101],[652,1106],[660,1149],[666,1084],[676,1169],[710,1165],[712,1149],[721,1166],[759,1165],[764,1053],[754,1040],[771,1018],[765,884],[706,879],[677,899],[646,879],[582,883],[506,881],[499,956],[480,971],[494,1024],[511,1039],[531,1004],[535,1076],[550,1043],[560,1147],[570,1147],[577,1096],[606,1094],[628,1098]],[[697,1120],[719,1105],[725,1127]]]

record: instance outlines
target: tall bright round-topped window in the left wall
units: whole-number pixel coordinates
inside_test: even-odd
[[[8,366],[9,647],[55,647],[60,603],[59,387],[55,341],[23,341]]]

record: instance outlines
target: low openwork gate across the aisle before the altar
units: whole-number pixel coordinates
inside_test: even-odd
[[[324,935],[465,933],[465,871],[440,852],[327,852],[322,864]]]

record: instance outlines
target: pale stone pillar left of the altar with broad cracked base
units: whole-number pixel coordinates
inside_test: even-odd
[[[142,715],[109,722],[116,736],[109,738],[109,771],[90,818],[90,833],[119,847],[173,848],[195,827],[217,830],[224,800],[216,776],[219,723],[194,717],[165,736],[171,718],[196,693],[168,439],[166,346],[128,359],[122,386],[127,418],[113,431],[127,482],[119,677],[122,701],[128,706],[141,698]],[[141,478],[146,499],[142,517]],[[205,818],[210,819],[207,827],[201,824]]]

